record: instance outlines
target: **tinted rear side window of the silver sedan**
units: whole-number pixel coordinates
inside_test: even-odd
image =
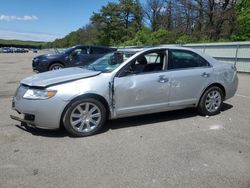
[[[170,50],[168,53],[168,69],[186,69],[207,66],[209,66],[209,63],[194,52],[187,50]]]

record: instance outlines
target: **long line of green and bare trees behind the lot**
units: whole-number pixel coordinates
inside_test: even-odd
[[[134,46],[250,40],[250,0],[119,0],[44,47]]]

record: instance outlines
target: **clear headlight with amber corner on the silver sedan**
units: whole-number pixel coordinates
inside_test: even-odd
[[[41,89],[28,89],[23,98],[25,99],[36,99],[43,100],[55,96],[55,90],[41,90]]]

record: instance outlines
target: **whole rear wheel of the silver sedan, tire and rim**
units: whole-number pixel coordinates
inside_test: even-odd
[[[220,113],[223,105],[223,93],[219,87],[212,86],[202,95],[198,110],[202,115],[216,115]]]

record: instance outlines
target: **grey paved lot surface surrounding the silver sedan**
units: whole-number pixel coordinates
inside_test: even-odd
[[[221,114],[187,109],[107,123],[98,135],[22,129],[9,118],[37,54],[0,54],[0,187],[250,187],[250,75]]]

